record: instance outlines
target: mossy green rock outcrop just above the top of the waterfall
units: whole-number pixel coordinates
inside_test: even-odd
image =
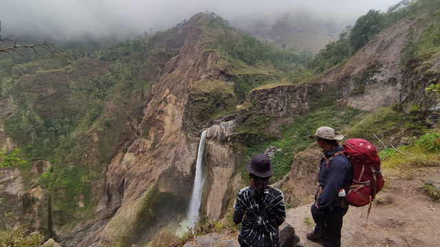
[[[219,80],[200,80],[192,86],[193,116],[196,124],[216,115],[234,112],[234,85]]]

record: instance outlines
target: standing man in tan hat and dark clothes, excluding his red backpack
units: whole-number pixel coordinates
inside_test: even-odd
[[[342,199],[345,196],[342,188],[350,187],[353,176],[349,159],[338,155],[342,153],[338,141],[344,139],[344,136],[335,133],[333,128],[320,127],[309,138],[316,139],[324,158],[320,161],[315,203],[311,205],[311,215],[316,226],[306,237],[325,247],[340,246],[342,218],[349,209],[347,202]]]

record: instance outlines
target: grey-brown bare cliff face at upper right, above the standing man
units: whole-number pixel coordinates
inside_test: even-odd
[[[254,89],[248,104],[239,109],[239,121],[261,115],[271,116],[267,134],[278,134],[282,124],[296,115],[320,107],[340,104],[375,111],[398,103],[406,113],[412,104],[421,104],[426,115],[437,123],[439,99],[427,99],[424,89],[438,81],[439,58],[415,61],[412,69],[402,71],[399,66],[406,36],[417,24],[417,19],[403,19],[376,36],[351,60],[323,73],[310,82]]]

